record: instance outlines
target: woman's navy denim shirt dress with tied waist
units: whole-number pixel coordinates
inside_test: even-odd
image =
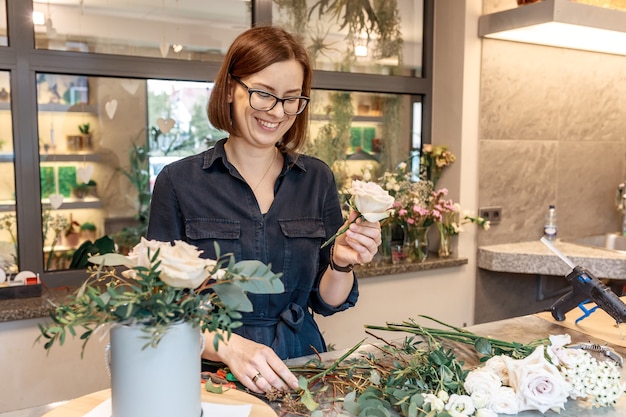
[[[148,239],[183,240],[215,259],[222,254],[257,259],[282,272],[281,294],[248,294],[254,311],[244,313],[234,332],[271,346],[282,359],[326,351],[313,312],[323,316],[355,305],[357,280],[338,307],[319,295],[328,267],[322,243],[343,224],[333,173],[319,159],[283,154],[274,202],[262,214],[250,186],[226,159],[224,143],[173,162],[157,176],[150,208]]]

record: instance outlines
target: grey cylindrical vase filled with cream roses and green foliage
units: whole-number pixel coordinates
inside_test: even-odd
[[[269,266],[216,252],[218,259],[204,259],[186,242],[142,238],[128,257],[91,257],[89,278],[63,303],[53,303],[52,321],[39,325],[38,339],[50,349],[80,334],[84,348],[109,331],[111,415],[197,417],[202,333],[215,335],[217,349],[238,326],[239,312],[252,311],[246,293],[283,291],[280,274]],[[118,275],[121,265],[128,269]]]

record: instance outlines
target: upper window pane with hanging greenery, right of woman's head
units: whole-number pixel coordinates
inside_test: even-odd
[[[423,1],[274,0],[273,5],[275,24],[304,39],[317,69],[422,76]]]

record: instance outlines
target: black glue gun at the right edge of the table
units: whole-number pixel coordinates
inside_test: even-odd
[[[552,306],[552,316],[556,320],[564,320],[565,313],[590,300],[613,317],[618,324],[626,321],[626,304],[591,272],[576,266],[566,278],[573,289]]]

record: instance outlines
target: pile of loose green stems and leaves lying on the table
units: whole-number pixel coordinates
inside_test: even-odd
[[[496,355],[524,358],[548,339],[529,343],[509,342],[476,335],[450,326],[428,316],[443,329],[424,327],[414,320],[366,326],[370,330],[409,333],[401,343],[391,343],[368,331],[381,344],[372,345],[375,352],[358,352],[363,341],[330,365],[317,358],[303,366],[292,366],[299,376],[302,391],[293,396],[268,395],[282,401],[287,412],[305,413],[312,417],[381,416],[393,412],[405,417],[451,417],[447,412],[435,412],[422,394],[445,391],[465,394],[463,381],[469,373],[452,346],[467,345],[481,361]],[[452,342],[452,344],[450,344]],[[357,352],[357,354],[355,354]]]

